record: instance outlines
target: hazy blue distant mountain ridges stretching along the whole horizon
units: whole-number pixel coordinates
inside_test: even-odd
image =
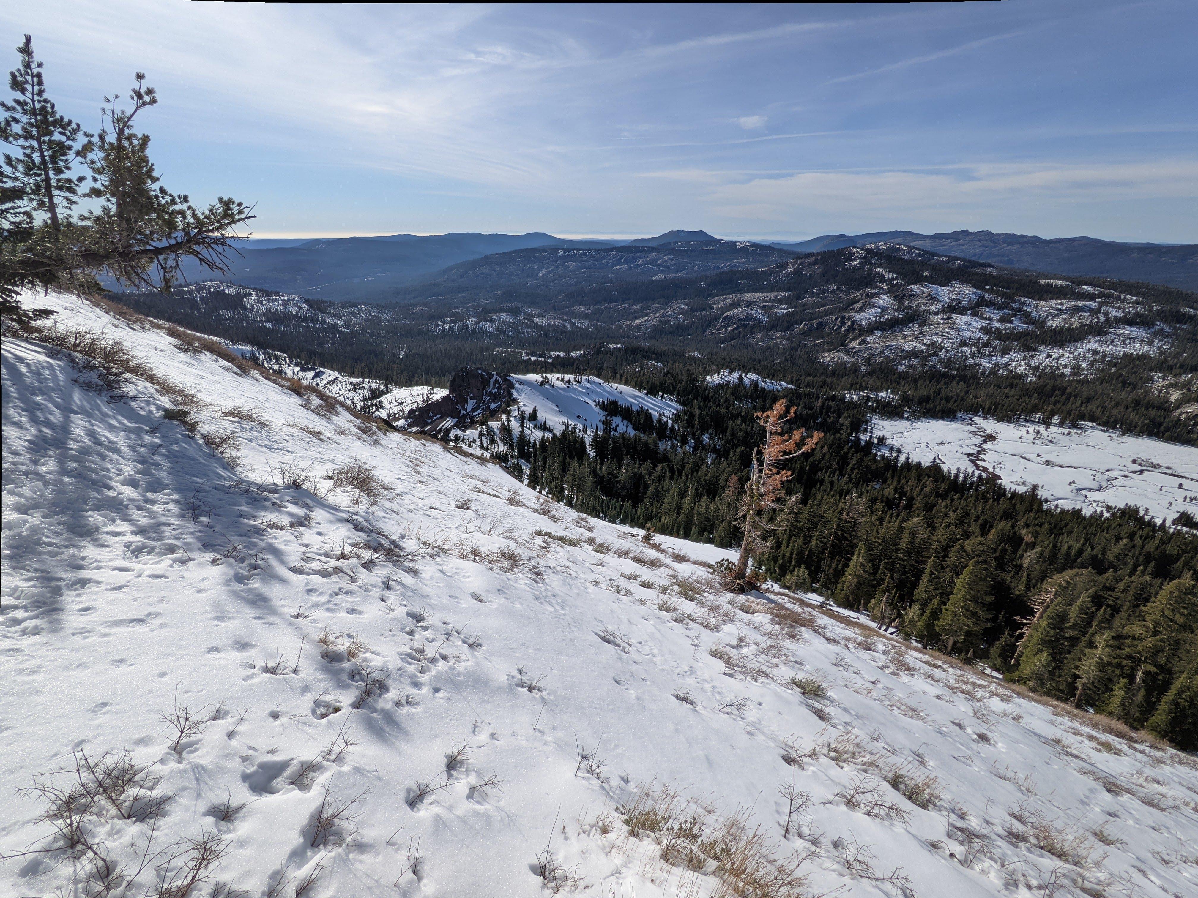
[[[544,231],[246,241],[240,243],[240,255],[231,259],[226,280],[320,299],[388,302],[413,292],[437,293],[450,284],[458,290],[532,281],[537,286],[556,281],[569,287],[605,280],[701,274],[726,271],[740,256],[743,267],[760,268],[794,253],[872,243],[898,243],[1051,274],[1198,290],[1198,245],[1117,243],[1093,237],[1045,239],[991,231],[933,235],[873,231],[824,235],[794,243],[720,239],[707,231],[682,229],[630,241],[565,239]],[[563,256],[557,250],[571,255]],[[528,255],[501,257],[518,251]],[[690,260],[684,261],[684,256]],[[545,267],[518,271],[537,261]],[[198,269],[184,267],[183,273],[192,280],[205,279]]]

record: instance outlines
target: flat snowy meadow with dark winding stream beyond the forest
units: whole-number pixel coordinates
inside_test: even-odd
[[[1198,514],[1198,448],[1094,425],[872,418],[877,436],[913,461],[1037,487],[1060,508],[1097,512],[1136,505],[1157,520]]]

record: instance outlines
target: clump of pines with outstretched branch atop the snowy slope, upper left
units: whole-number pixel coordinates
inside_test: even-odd
[[[158,102],[145,75],[138,73],[129,93],[132,110],[105,97],[99,133],[75,146],[79,126],[58,113],[46,95],[42,63],[32,41],[17,48],[20,63],[10,77],[13,97],[0,134],[19,154],[4,157],[0,182],[0,313],[18,321],[30,316],[16,299],[29,286],[77,292],[99,290],[101,272],[126,286],[169,287],[183,260],[201,269],[228,272],[225,260],[236,229],[254,216],[224,196],[196,208],[186,194],[159,183],[150,160],[150,138],[133,129],[138,114]],[[86,196],[97,201],[78,219],[65,214],[80,198],[86,176],[72,176],[81,159],[91,172]]]

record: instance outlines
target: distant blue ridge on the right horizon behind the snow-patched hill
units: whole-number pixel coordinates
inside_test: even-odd
[[[1198,245],[1169,247],[1158,243],[1119,243],[1094,237],[1035,237],[993,231],[873,231],[829,233],[797,243],[769,245],[795,253],[823,253],[870,243],[902,243],[942,255],[973,259],[1012,268],[1091,278],[1138,280],[1148,284],[1198,290]]]

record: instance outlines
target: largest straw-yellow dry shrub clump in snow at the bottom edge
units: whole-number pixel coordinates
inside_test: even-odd
[[[749,812],[720,817],[668,787],[647,788],[617,808],[633,838],[651,839],[673,867],[714,876],[720,898],[803,898],[805,856],[781,858]]]

